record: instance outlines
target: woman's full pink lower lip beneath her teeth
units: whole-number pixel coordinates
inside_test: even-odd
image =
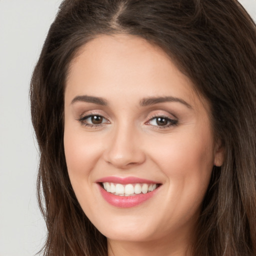
[[[134,207],[143,203],[144,201],[151,198],[158,190],[159,187],[154,189],[153,191],[147,192],[145,194],[137,194],[137,195],[130,195],[130,196],[120,196],[115,195],[110,192],[107,192],[100,184],[98,184],[99,190],[103,198],[113,206],[120,207],[120,208],[128,208]]]

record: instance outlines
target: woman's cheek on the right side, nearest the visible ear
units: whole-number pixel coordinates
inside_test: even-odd
[[[169,143],[166,139],[162,142],[151,155],[169,184],[167,198],[180,214],[187,208],[195,210],[204,197],[213,167],[212,136],[206,131],[187,132],[182,136],[174,134]]]

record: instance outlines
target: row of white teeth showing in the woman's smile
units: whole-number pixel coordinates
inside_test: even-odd
[[[146,184],[146,183],[135,183],[135,184],[119,184],[119,183],[112,183],[112,182],[102,182],[104,189],[107,192],[121,195],[121,196],[130,196],[136,195],[140,193],[147,193],[151,192],[156,188],[156,184]]]

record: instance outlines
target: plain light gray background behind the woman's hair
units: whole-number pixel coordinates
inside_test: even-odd
[[[34,255],[45,237],[28,87],[60,2],[0,0],[0,256]],[[256,0],[240,2],[256,20]]]

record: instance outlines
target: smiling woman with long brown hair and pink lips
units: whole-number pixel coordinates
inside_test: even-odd
[[[235,0],[65,0],[31,88],[44,255],[256,254],[256,33]]]

